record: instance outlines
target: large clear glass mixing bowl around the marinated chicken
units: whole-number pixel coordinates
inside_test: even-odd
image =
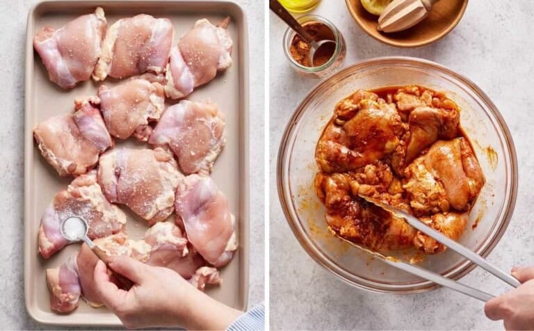
[[[330,76],[302,100],[286,127],[277,161],[278,194],[288,223],[306,252],[341,280],[371,291],[417,293],[437,285],[387,266],[328,231],[325,208],[313,188],[318,171],[314,152],[339,100],[359,88],[410,84],[446,92],[458,104],[460,123],[487,180],[459,242],[487,256],[501,239],[515,206],[517,157],[510,131],[496,106],[469,79],[437,63],[406,57],[364,60]],[[425,257],[419,266],[455,280],[474,268],[451,250]]]

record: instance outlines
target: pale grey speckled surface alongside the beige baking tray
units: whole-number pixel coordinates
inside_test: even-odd
[[[0,330],[40,329],[24,307],[24,45],[26,16],[38,1],[0,1],[0,63],[3,66],[0,141]],[[236,1],[249,31],[263,35],[264,8],[254,0]],[[264,67],[263,40],[250,38],[250,63]],[[250,70],[250,296],[249,307],[264,300],[264,70]]]

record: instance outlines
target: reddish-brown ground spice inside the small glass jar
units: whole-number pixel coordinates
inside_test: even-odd
[[[336,40],[336,37],[332,30],[321,22],[309,22],[304,25],[307,33],[312,35],[315,41],[320,40]],[[303,40],[300,35],[296,34],[291,40],[291,46],[289,52],[300,65],[305,67],[312,67],[312,63],[309,61],[309,51],[312,46]],[[328,42],[326,45],[319,47],[318,51],[314,54],[313,67],[320,67],[332,58],[334,51],[336,50],[336,44],[334,42]]]

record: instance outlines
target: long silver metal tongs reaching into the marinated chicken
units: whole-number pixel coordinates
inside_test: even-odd
[[[365,197],[364,199],[368,202],[371,202],[372,204],[375,204],[378,207],[382,207],[382,209],[385,209],[386,211],[393,213],[395,216],[404,218],[408,224],[412,225],[412,227],[423,232],[423,234],[426,234],[432,237],[436,241],[439,241],[439,243],[446,245],[449,249],[457,252],[458,254],[462,255],[463,257],[473,262],[474,264],[480,266],[481,268],[484,268],[486,271],[489,271],[489,273],[492,273],[496,277],[499,277],[504,282],[507,282],[508,284],[514,287],[521,285],[521,282],[519,282],[517,278],[513,277],[509,273],[505,273],[504,271],[502,271],[500,268],[497,268],[493,264],[490,264],[488,261],[486,261],[486,259],[484,259],[480,255],[465,248],[463,245],[460,245],[459,243],[453,241],[452,239],[449,239],[447,236],[445,236],[441,232],[437,232],[435,229],[432,229],[432,227],[429,227],[425,223],[421,222],[421,220],[410,215],[409,213],[406,213],[405,211],[401,211],[400,209],[391,207],[389,204],[383,204],[382,202],[369,200],[369,198],[367,197]],[[341,236],[338,236],[338,237],[342,239],[343,241],[350,243],[351,245],[355,245],[358,248],[362,248],[359,245],[356,245],[355,243],[348,241],[347,239],[341,238]],[[369,252],[369,250],[366,250],[366,252]],[[456,282],[455,280],[451,280],[446,277],[443,277],[442,275],[438,275],[437,273],[432,273],[431,271],[423,269],[419,266],[414,266],[413,264],[409,264],[404,261],[399,261],[398,259],[394,259],[391,257],[385,257],[384,255],[380,255],[375,252],[371,252],[371,254],[382,258],[382,260],[385,261],[386,264],[389,264],[389,266],[393,266],[395,268],[401,269],[402,271],[406,271],[407,273],[411,273],[412,275],[416,275],[417,277],[430,280],[430,282],[435,282],[436,284],[446,286],[449,289],[453,289],[460,293],[464,293],[467,296],[471,296],[472,298],[476,298],[483,302],[486,302],[489,299],[494,298],[494,296],[492,296],[489,293],[480,291],[478,289],[474,289],[471,286],[461,284],[459,282]]]

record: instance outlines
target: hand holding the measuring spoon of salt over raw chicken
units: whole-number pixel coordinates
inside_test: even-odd
[[[116,257],[109,266],[135,283],[129,291],[110,281],[106,265],[95,266],[95,289],[126,328],[226,329],[242,312],[213,300],[168,268]]]

